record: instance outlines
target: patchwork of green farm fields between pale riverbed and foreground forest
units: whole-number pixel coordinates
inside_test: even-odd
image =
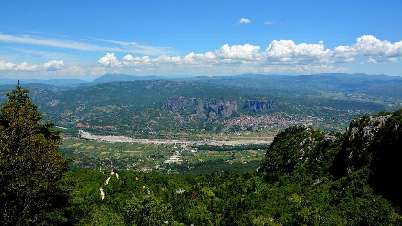
[[[217,161],[225,165],[259,162],[265,155],[265,151],[262,150],[214,151],[198,150],[190,146],[187,148],[192,152],[180,152],[184,148],[185,146],[180,144],[103,142],[66,136],[60,146],[60,152],[65,152],[66,156],[76,156],[76,161],[72,165],[74,168],[111,168],[113,161],[114,168],[135,170],[146,167],[149,171],[156,172],[162,172],[164,168],[173,169],[178,165],[190,166],[203,162]],[[180,155],[180,162],[163,163],[170,156],[177,154]]]

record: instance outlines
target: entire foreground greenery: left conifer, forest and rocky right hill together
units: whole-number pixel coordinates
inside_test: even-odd
[[[17,86],[0,109],[2,225],[402,225],[402,109],[344,133],[289,127],[258,172],[170,177],[68,169],[27,93]]]

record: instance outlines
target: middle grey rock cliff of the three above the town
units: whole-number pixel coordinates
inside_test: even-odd
[[[207,110],[207,117],[211,119],[216,118],[227,118],[237,112],[237,102],[236,101],[214,101],[212,103],[207,103],[205,105],[205,110]]]

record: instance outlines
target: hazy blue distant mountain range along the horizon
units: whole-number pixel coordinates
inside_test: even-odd
[[[268,80],[272,80],[273,82],[284,82],[286,84],[289,83],[377,83],[379,81],[391,81],[391,80],[402,80],[402,76],[388,76],[385,74],[378,75],[370,75],[363,73],[356,74],[344,74],[344,73],[323,73],[323,74],[307,74],[307,75],[297,75],[297,76],[289,76],[289,75],[279,75],[279,74],[241,74],[234,76],[189,76],[189,77],[181,77],[181,78],[169,78],[166,76],[136,76],[136,75],[127,75],[127,74],[104,74],[99,78],[89,82],[86,80],[80,79],[51,79],[51,80],[41,80],[41,79],[21,79],[20,84],[29,84],[30,88],[43,88],[39,84],[48,84],[52,86],[67,86],[68,88],[72,87],[88,87],[94,84],[105,83],[105,82],[125,82],[125,81],[135,81],[135,80],[174,80],[181,82],[206,82],[206,83],[236,83],[246,85],[248,82],[255,84],[258,80],[265,80],[263,83],[265,85]],[[279,82],[279,83],[281,83]],[[8,79],[8,78],[0,78],[0,88],[8,88],[8,86],[1,85],[15,85],[17,83],[17,79]],[[270,82],[268,82],[270,83]],[[398,82],[397,82],[398,83]],[[399,83],[398,83],[399,84]],[[363,85],[365,86],[365,85]],[[366,84],[367,86],[367,84]],[[369,85],[371,86],[371,85]],[[54,87],[52,87],[54,88]],[[51,90],[52,88],[44,88],[47,90]],[[62,88],[62,89],[65,89]]]

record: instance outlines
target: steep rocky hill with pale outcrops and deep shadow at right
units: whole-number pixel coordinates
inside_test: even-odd
[[[257,171],[281,175],[340,179],[360,172],[373,189],[402,204],[402,109],[353,119],[344,133],[293,126],[271,143]]]

